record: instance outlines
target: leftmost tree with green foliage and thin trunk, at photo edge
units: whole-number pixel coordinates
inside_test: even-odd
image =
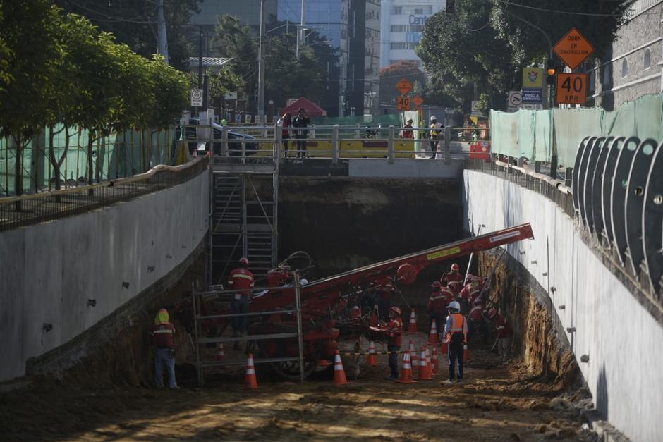
[[[47,0],[3,1],[0,15],[0,41],[9,54],[0,78],[0,137],[13,141],[14,190],[22,195],[23,149],[53,112],[48,94],[62,55],[55,37],[59,20],[57,8]]]

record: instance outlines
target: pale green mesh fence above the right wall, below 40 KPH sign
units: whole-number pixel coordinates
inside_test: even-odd
[[[588,135],[663,140],[663,94],[645,95],[614,111],[601,108],[490,111],[491,150],[572,167],[578,145]]]

